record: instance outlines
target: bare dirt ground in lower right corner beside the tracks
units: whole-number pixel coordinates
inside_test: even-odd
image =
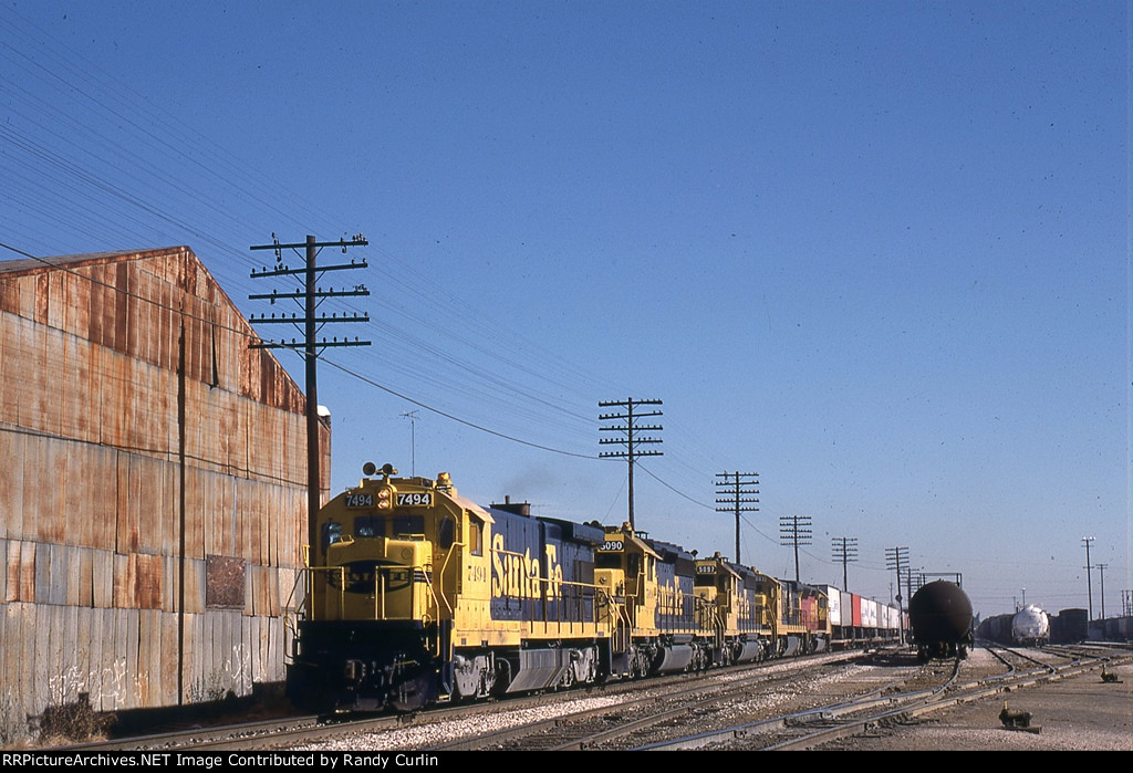
[[[1105,684],[1100,671],[1036,685],[937,712],[919,724],[891,728],[827,748],[853,750],[1133,750],[1133,664],[1110,669],[1122,684]],[[1006,730],[999,712],[1031,712],[1040,732]]]

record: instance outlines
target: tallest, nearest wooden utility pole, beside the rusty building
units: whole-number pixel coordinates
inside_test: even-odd
[[[258,280],[269,276],[296,276],[303,277],[301,286],[295,292],[276,292],[272,291],[270,293],[259,295],[248,295],[249,300],[266,300],[275,303],[275,301],[281,301],[284,299],[291,299],[301,309],[300,315],[292,314],[291,316],[280,315],[276,316],[274,312],[271,317],[267,315],[261,315],[259,317],[249,317],[248,321],[253,325],[292,325],[303,333],[303,338],[296,342],[291,338],[290,342],[286,341],[254,341],[249,344],[250,349],[290,349],[298,352],[303,357],[306,363],[306,395],[307,395],[307,531],[308,531],[308,543],[314,546],[317,541],[318,535],[315,533],[315,516],[318,514],[320,500],[320,471],[318,471],[318,357],[323,350],[331,346],[368,346],[370,342],[359,341],[357,337],[353,341],[342,340],[339,341],[335,337],[333,341],[327,341],[323,338],[317,341],[316,336],[324,325],[330,323],[368,323],[369,315],[353,314],[353,315],[332,315],[327,317],[325,314],[318,315],[318,304],[327,298],[346,298],[346,297],[364,297],[369,295],[369,290],[365,285],[353,285],[350,290],[335,290],[330,287],[323,290],[317,286],[320,277],[326,272],[334,270],[347,270],[356,268],[366,268],[366,260],[363,259],[361,263],[356,263],[351,260],[348,265],[338,266],[318,266],[316,260],[318,258],[318,252],[324,247],[338,247],[344,254],[349,247],[366,247],[369,244],[361,234],[358,234],[347,241],[346,239],[340,239],[339,241],[315,241],[314,237],[308,235],[307,241],[295,243],[295,244],[281,244],[275,234],[272,234],[271,244],[255,244],[249,249],[253,250],[273,250],[275,252],[275,267],[267,268],[264,267],[262,272],[252,272],[252,278]],[[290,268],[283,264],[283,250],[298,250],[300,248],[306,249],[305,265],[301,268]]]

